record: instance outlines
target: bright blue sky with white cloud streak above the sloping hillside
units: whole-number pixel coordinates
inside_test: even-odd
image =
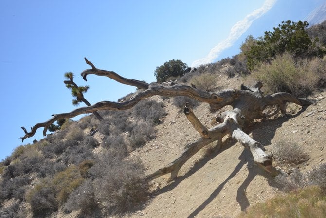
[[[91,103],[116,101],[134,87],[109,78],[79,75],[90,68],[155,81],[157,66],[181,59],[189,66],[239,52],[249,34],[272,30],[283,20],[302,20],[324,0],[1,0],[0,160],[21,145],[28,130],[51,114],[75,109],[63,84],[72,71],[89,85]],[[225,46],[227,45],[227,46]],[[26,139],[41,139],[42,130]]]

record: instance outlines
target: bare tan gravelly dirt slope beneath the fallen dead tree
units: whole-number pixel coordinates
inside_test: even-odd
[[[238,88],[243,78],[217,78],[219,89]],[[217,90],[218,92],[218,90]],[[279,140],[295,142],[309,155],[310,159],[297,166],[281,166],[284,170],[299,168],[309,170],[326,158],[326,96],[325,90],[310,98],[318,102],[307,108],[289,104],[288,114],[276,119],[257,120],[250,135],[270,151]],[[179,157],[187,143],[200,137],[172,99],[164,101],[167,116],[158,125],[157,137],[145,146],[132,152],[131,156],[142,159],[146,173],[150,174]],[[210,114],[208,104],[194,109],[206,127],[213,127],[216,114]],[[271,175],[260,169],[251,153],[232,139],[218,153],[205,156],[199,151],[181,168],[178,177],[169,182],[169,175],[152,181],[152,193],[143,207],[124,217],[130,218],[216,218],[236,217],[250,205],[264,201],[280,192]],[[204,149],[202,149],[204,150]]]

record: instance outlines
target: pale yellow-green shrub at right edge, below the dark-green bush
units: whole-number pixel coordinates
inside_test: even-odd
[[[289,92],[295,96],[307,96],[321,84],[325,84],[324,62],[325,58],[315,58],[312,62],[308,59],[295,61],[290,54],[285,53],[276,56],[271,64],[261,65],[253,75],[266,84],[269,92]]]

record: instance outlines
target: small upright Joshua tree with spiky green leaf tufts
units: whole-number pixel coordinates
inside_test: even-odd
[[[88,100],[86,100],[84,98],[84,93],[88,91],[88,89],[90,88],[90,86],[86,85],[86,86],[78,86],[74,81],[73,81],[73,73],[72,72],[67,72],[65,73],[65,78],[69,79],[69,80],[65,80],[63,81],[66,84],[66,87],[68,89],[71,89],[71,93],[72,96],[75,97],[75,99],[72,99],[72,104],[75,106],[78,106],[80,102],[84,102],[87,106],[91,106],[91,103],[88,102]],[[93,112],[93,114],[95,115],[95,117],[98,120],[103,120],[103,118],[101,117],[101,115],[99,113],[97,113],[96,111]]]

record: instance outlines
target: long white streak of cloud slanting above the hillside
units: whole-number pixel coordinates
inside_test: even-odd
[[[269,11],[272,6],[275,4],[276,0],[265,0],[263,6],[254,10],[252,13],[248,14],[243,20],[238,21],[235,25],[231,28],[229,36],[222,40],[215,46],[205,58],[195,60],[191,66],[199,66],[202,64],[207,64],[213,62],[219,54],[225,50],[226,48],[231,47],[239,37],[244,34],[254,20],[258,19],[260,16],[265,14]]]

